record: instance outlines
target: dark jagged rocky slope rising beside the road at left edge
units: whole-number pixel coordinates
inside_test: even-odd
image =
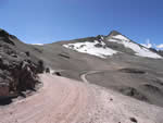
[[[15,36],[0,29],[0,99],[35,89],[38,83],[37,73],[42,72],[39,63],[41,61],[21,46],[25,45]]]

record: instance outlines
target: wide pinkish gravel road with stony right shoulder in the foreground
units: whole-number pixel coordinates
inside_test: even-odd
[[[64,77],[40,78],[37,94],[0,107],[0,123],[163,123],[162,108]]]

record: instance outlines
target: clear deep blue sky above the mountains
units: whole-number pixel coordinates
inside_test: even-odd
[[[118,30],[163,44],[163,0],[0,0],[0,28],[27,44],[49,44]]]

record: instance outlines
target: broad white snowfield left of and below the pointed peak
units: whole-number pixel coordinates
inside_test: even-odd
[[[96,45],[100,45],[100,47],[96,47]],[[117,51],[105,47],[104,42],[102,41],[99,42],[98,40],[95,40],[92,42],[85,41],[85,42],[67,44],[67,45],[63,45],[63,47],[78,52],[100,57],[103,59],[105,59],[106,56],[113,56],[114,53],[117,53]]]

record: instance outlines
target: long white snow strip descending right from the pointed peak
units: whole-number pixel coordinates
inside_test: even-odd
[[[122,36],[122,35],[112,36],[112,38],[109,39],[109,41],[122,44],[126,48],[129,48],[129,49],[134,50],[136,52],[135,54],[139,56],[139,57],[162,59],[162,57],[159,56],[158,53],[154,53],[154,52],[150,51],[148,48],[140,47],[139,45],[130,41],[129,39],[127,39],[125,36]]]

